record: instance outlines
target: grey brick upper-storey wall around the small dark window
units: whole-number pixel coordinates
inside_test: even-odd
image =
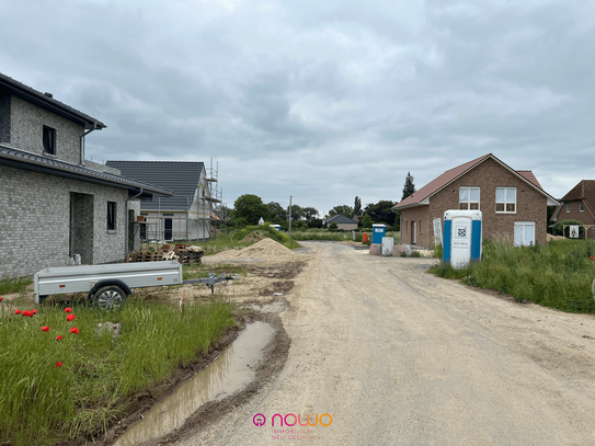
[[[80,164],[82,125],[33,105],[22,99],[11,99],[11,146],[15,149],[44,155],[43,127],[56,129],[56,158]]]

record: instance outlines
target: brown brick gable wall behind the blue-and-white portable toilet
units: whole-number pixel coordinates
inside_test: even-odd
[[[481,188],[480,210],[483,216],[482,229],[484,239],[492,239],[496,236],[510,237],[512,239],[514,237],[515,221],[535,221],[535,239],[540,244],[546,243],[546,196],[501,167],[494,160],[489,159],[430,198],[430,205],[401,210],[403,225],[405,220],[422,220],[423,231],[422,235],[417,235],[419,245],[432,247],[434,241],[434,231],[431,226],[433,219],[440,218],[444,228],[444,213],[448,209],[459,208],[459,187],[465,186]],[[496,187],[516,187],[515,214],[496,214]],[[425,209],[425,214],[423,209]],[[404,235],[403,243],[411,243],[411,224],[409,225],[409,233]],[[401,229],[401,233],[404,233],[403,229]],[[426,232],[427,238],[423,232]]]

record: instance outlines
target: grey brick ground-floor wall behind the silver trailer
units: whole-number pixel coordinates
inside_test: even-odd
[[[0,277],[31,275],[47,266],[68,265],[71,193],[91,196],[88,199],[93,204],[92,231],[84,219],[75,229],[76,237],[92,238],[92,262],[124,260],[126,190],[0,165]],[[111,233],[107,201],[117,203],[116,230]]]

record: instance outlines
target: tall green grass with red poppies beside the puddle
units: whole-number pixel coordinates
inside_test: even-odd
[[[103,430],[126,397],[195,361],[233,325],[222,300],[188,306],[184,316],[134,300],[114,312],[73,310],[71,322],[64,307],[42,307],[32,318],[0,311],[0,444],[54,444]],[[122,324],[119,338],[98,330],[106,321]]]

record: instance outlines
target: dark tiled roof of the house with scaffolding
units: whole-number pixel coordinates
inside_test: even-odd
[[[147,210],[186,210],[192,205],[205,169],[203,162],[192,161],[107,161],[105,164],[118,169],[124,176],[175,192],[173,197],[144,202],[142,209]]]

